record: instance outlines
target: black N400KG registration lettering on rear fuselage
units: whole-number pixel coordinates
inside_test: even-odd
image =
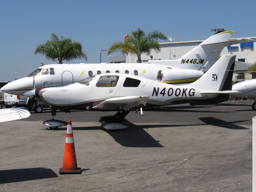
[[[168,89],[168,90],[167,90]],[[153,92],[152,92],[152,96],[158,96],[158,94],[164,96],[165,94],[167,94],[169,97],[172,95],[175,95],[176,97],[178,96],[184,96],[184,97],[193,97],[195,96],[195,89],[194,88],[163,88],[160,92],[159,92],[159,87],[158,88],[153,88]]]

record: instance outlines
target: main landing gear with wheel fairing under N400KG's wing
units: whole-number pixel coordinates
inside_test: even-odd
[[[124,118],[129,112],[130,111],[122,110],[118,111],[115,115],[102,116],[100,117],[99,122],[101,123],[102,127],[108,130],[118,130],[132,127],[134,124]]]

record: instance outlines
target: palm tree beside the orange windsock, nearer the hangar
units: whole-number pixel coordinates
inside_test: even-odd
[[[150,54],[150,50],[154,49],[156,52],[160,51],[160,46],[158,44],[158,39],[167,40],[165,34],[159,31],[152,31],[148,34],[138,28],[136,31],[132,31],[131,35],[126,38],[124,42],[114,42],[108,48],[108,54],[122,51],[122,54],[128,52],[136,54],[138,57],[138,63],[141,63],[141,54]]]

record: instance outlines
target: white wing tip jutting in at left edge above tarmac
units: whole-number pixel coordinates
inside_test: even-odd
[[[30,116],[30,112],[25,108],[0,109],[0,122],[23,119]]]

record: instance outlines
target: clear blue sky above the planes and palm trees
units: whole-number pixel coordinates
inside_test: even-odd
[[[233,30],[233,38],[256,36],[255,7],[255,0],[1,1],[0,80],[22,78],[40,62],[54,63],[34,55],[51,33],[81,42],[87,63],[98,63],[100,49],[123,41],[138,28],[146,33],[159,30],[182,41],[208,38],[211,28]],[[71,63],[80,62],[85,61]],[[102,62],[109,62],[106,52]]]

